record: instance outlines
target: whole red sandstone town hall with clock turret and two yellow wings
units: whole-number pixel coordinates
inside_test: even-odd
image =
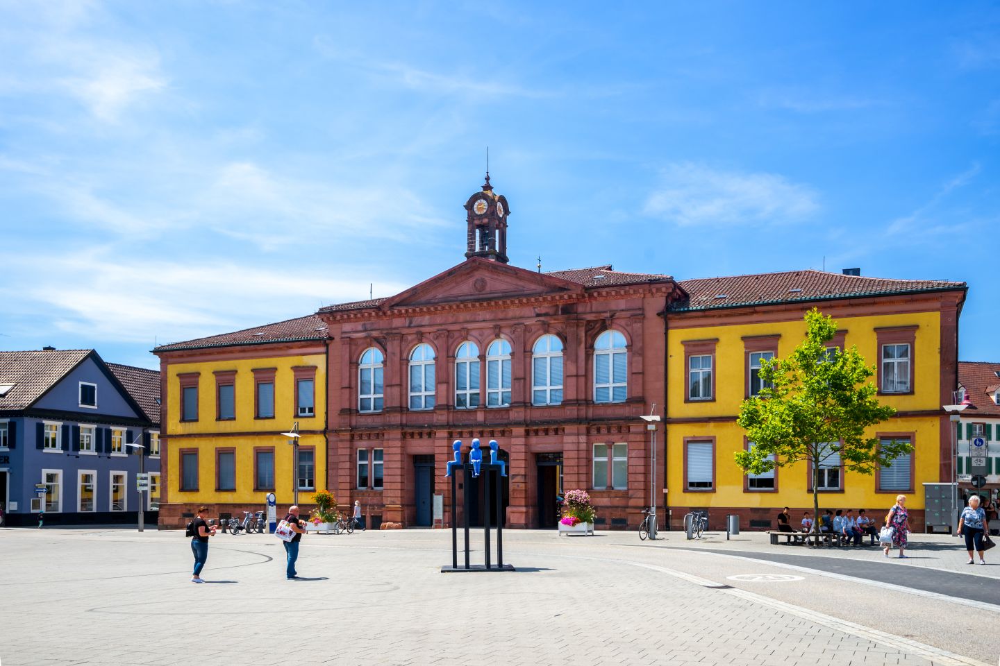
[[[360,500],[369,525],[430,525],[450,484],[451,443],[500,445],[508,463],[509,527],[550,527],[557,496],[587,489],[598,527],[641,520],[657,437],[659,513],[676,527],[691,508],[744,527],[780,507],[811,506],[810,474],[759,477],[736,468],[747,445],[740,402],[760,389],[762,358],[786,355],[814,306],[878,368],[880,397],[898,410],[872,434],[915,450],[874,476],[822,470],[821,503],[884,508],[924,481],[950,480],[947,403],[956,385],[964,283],[791,271],[686,281],[610,266],[541,273],[508,263],[511,210],[487,178],[465,203],[464,261],[390,298],[341,304],[277,324],[154,349],[163,382],[161,524],[197,504],[213,514],[281,504],[317,488],[343,510]],[[516,227],[515,227],[516,229]],[[300,457],[281,433],[294,421]],[[460,490],[460,492],[464,492]],[[483,503],[470,497],[481,521]],[[496,519],[496,516],[490,516]],[[445,516],[447,524],[450,517]]]

